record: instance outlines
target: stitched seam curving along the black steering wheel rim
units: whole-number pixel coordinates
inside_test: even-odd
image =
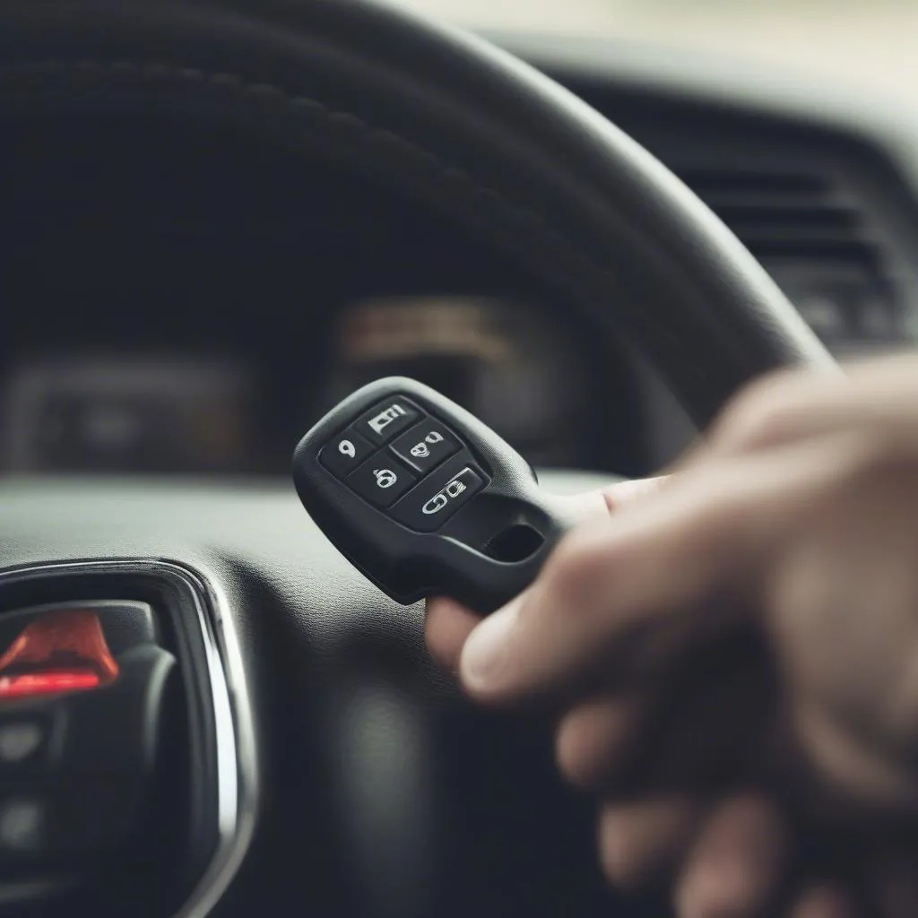
[[[573,259],[581,270],[599,274],[613,283],[617,283],[616,275],[613,272],[577,249],[565,236],[555,230],[540,213],[509,201],[501,196],[498,191],[479,182],[474,175],[468,173],[463,167],[443,162],[436,153],[421,147],[415,141],[408,140],[392,130],[375,127],[352,112],[333,110],[317,99],[309,98],[305,95],[292,94],[274,83],[254,81],[234,73],[207,72],[194,67],[183,67],[160,62],[50,60],[19,62],[0,66],[0,75],[5,76],[22,73],[45,73],[52,76],[66,71],[82,73],[86,76],[102,76],[108,79],[126,76],[140,77],[140,79],[150,82],[178,79],[185,84],[196,83],[200,87],[210,86],[218,91],[233,92],[239,99],[247,97],[252,101],[262,100],[265,103],[283,102],[288,112],[299,118],[318,118],[327,127],[337,130],[342,137],[359,135],[364,144],[379,143],[389,149],[397,149],[399,154],[411,157],[415,165],[435,170],[439,182],[443,185],[457,183],[464,185],[465,190],[474,194],[486,207],[496,207],[505,217],[510,218],[518,226],[523,226],[530,232],[536,231],[542,236],[543,241],[554,247],[557,252],[563,253],[569,259]],[[639,322],[645,323],[648,320],[648,315],[643,310],[633,310],[633,315]],[[654,324],[655,334],[666,338],[679,354],[684,367],[690,370],[706,386],[711,386],[711,391],[713,392],[713,381],[710,375],[702,364],[693,359],[693,354],[685,348],[682,340],[667,329],[664,324]]]

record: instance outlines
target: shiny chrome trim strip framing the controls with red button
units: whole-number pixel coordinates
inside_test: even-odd
[[[50,571],[165,574],[181,580],[195,597],[214,703],[219,837],[207,869],[174,918],[204,918],[236,876],[252,841],[258,812],[258,759],[252,709],[239,640],[229,616],[229,600],[213,579],[196,569],[149,557],[7,568],[0,571],[0,585],[6,579],[34,577]]]

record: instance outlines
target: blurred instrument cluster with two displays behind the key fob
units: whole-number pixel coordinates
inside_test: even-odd
[[[258,314],[256,313],[256,317]],[[319,417],[384,375],[449,393],[532,462],[589,465],[599,354],[551,312],[509,298],[389,295],[330,309],[299,348],[62,348],[11,362],[4,384],[9,471],[270,474]],[[255,329],[249,329],[253,334]],[[222,353],[220,353],[222,351]]]

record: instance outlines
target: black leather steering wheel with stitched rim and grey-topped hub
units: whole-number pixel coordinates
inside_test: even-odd
[[[632,341],[699,424],[769,368],[833,366],[647,151],[525,64],[404,9],[3,4],[0,124],[99,113],[179,139],[231,130],[265,169],[277,151],[318,155],[396,190]],[[5,614],[146,599],[173,622],[182,690],[207,711],[185,729],[210,763],[194,786],[216,828],[172,912],[608,908],[586,807],[555,782],[543,726],[467,707],[426,659],[422,610],[364,582],[289,482],[8,482],[0,565]]]

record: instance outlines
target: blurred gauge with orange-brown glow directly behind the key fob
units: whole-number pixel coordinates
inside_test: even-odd
[[[582,461],[583,360],[535,308],[485,298],[364,301],[336,330],[329,402],[408,375],[474,412],[533,463]]]

